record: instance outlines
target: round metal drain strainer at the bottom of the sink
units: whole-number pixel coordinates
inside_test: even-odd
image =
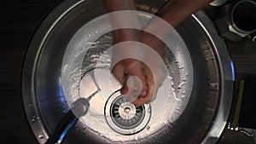
[[[136,106],[117,91],[108,98],[104,114],[111,129],[122,135],[133,135],[147,126],[151,107],[149,104]]]

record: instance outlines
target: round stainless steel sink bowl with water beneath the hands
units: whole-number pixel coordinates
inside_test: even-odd
[[[150,20],[165,1],[137,0]],[[135,106],[111,74],[112,29],[101,1],[60,3],[39,26],[22,74],[26,117],[40,143],[79,99],[89,112],[64,143],[215,143],[230,112],[234,72],[206,14],[192,14],[163,39],[167,76],[154,101]],[[98,19],[96,19],[98,18]]]

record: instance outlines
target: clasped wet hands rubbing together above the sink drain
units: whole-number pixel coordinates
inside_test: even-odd
[[[121,94],[135,105],[143,105],[154,100],[157,89],[164,79],[163,72],[153,74],[148,66],[139,60],[122,60],[113,66],[112,72],[120,84],[123,84]]]

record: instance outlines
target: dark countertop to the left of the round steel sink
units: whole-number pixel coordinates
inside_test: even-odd
[[[38,143],[22,106],[23,56],[38,24],[59,0],[4,0],[0,4],[0,143]]]

